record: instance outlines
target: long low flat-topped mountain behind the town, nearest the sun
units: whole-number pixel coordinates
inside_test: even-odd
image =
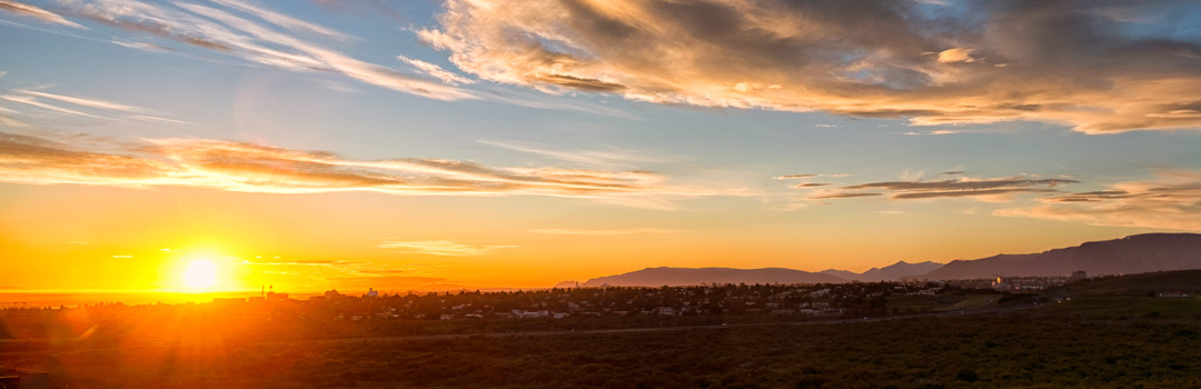
[[[581,283],[582,287],[609,286],[689,286],[701,283],[819,283],[846,280],[793,269],[730,269],[730,268],[647,268],[621,275],[599,277]]]

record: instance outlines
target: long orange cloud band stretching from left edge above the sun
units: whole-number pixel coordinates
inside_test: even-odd
[[[665,185],[641,170],[489,167],[470,161],[399,158],[354,161],[325,151],[298,151],[197,138],[143,139],[92,146],[86,137],[52,140],[0,132],[0,180],[22,184],[196,186],[237,192],[328,193],[368,191],[399,196],[556,196],[619,202],[715,196]],[[733,193],[733,192],[731,192]]]

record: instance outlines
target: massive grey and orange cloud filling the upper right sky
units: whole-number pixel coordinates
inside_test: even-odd
[[[465,72],[548,94],[902,116],[918,126],[1201,127],[1191,113],[1201,112],[1201,43],[1182,19],[1195,5],[1131,4],[1127,12],[1140,18],[1175,18],[1137,29],[1107,17],[1110,7],[450,0],[438,25],[418,35]]]

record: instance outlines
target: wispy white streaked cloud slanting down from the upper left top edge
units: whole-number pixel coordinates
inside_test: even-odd
[[[323,37],[342,41],[349,38],[349,36],[331,29],[246,2],[234,0],[217,2],[291,31],[316,32]],[[231,12],[196,4],[177,2],[175,6],[166,7],[131,0],[91,0],[72,2],[64,10],[64,13],[133,32],[149,34],[216,50],[276,68],[294,72],[335,72],[363,83],[435,100],[479,98],[471,91],[446,85],[428,77],[406,74],[381,65],[365,62]]]

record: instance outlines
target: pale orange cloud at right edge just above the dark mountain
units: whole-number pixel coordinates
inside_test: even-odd
[[[1201,231],[1201,172],[1165,169],[1157,172],[1153,180],[1045,197],[1036,204],[999,209],[993,215],[1093,226]]]

